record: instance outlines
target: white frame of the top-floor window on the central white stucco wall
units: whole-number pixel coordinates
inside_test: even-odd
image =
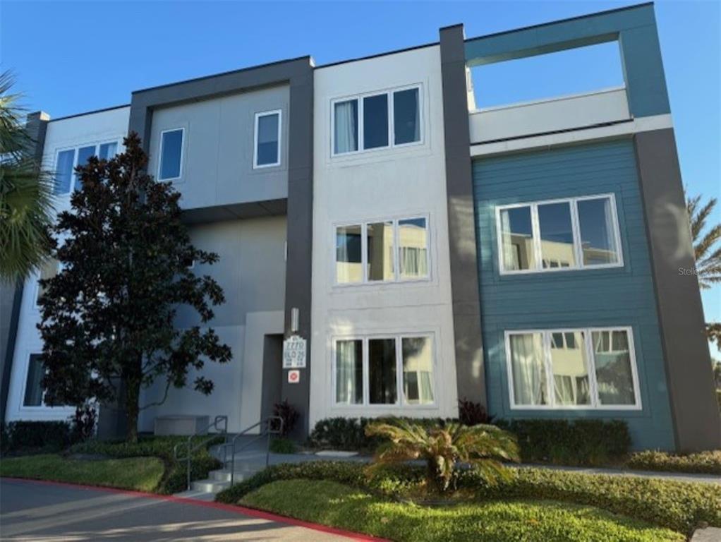
[[[418,89],[418,141],[410,141],[410,143],[395,142],[395,118],[394,118],[394,100],[393,95],[395,92],[402,90]],[[388,145],[385,147],[373,147],[373,149],[363,148],[363,135],[364,135],[364,122],[363,122],[363,99],[373,96],[386,95],[388,97]],[[358,149],[355,151],[348,152],[335,152],[335,104],[342,102],[352,102],[353,100],[358,102]],[[369,152],[387,151],[388,149],[402,149],[404,147],[416,147],[423,145],[425,139],[425,124],[423,111],[423,83],[407,84],[403,87],[393,87],[391,89],[376,90],[373,92],[364,92],[363,94],[350,95],[344,97],[337,97],[330,100],[330,156],[345,157],[355,156],[356,154],[366,154]]]

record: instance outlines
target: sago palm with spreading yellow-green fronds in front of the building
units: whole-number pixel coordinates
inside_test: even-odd
[[[389,463],[424,460],[428,486],[438,491],[448,489],[459,464],[476,468],[489,484],[494,484],[510,476],[502,461],[519,460],[516,438],[495,425],[427,426],[394,419],[368,424],[366,434],[387,439],[376,450],[371,471]]]

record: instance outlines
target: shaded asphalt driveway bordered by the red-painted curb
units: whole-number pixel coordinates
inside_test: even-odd
[[[243,513],[222,505],[2,478],[0,538],[43,542],[325,542],[355,537],[270,520],[262,513]]]

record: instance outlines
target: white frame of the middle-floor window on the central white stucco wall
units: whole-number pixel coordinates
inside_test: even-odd
[[[419,277],[407,277],[404,278],[400,274],[400,255],[399,255],[399,237],[398,237],[398,223],[402,220],[412,219],[425,219],[425,266],[428,269],[428,275]],[[370,281],[368,280],[368,224],[379,224],[380,222],[392,222],[393,224],[393,279],[382,280],[382,281]],[[336,235],[339,227],[348,226],[361,226],[361,269],[363,271],[363,279],[360,282],[338,282],[338,274],[336,269],[337,264],[337,247],[336,247]],[[333,287],[337,288],[353,288],[353,287],[373,287],[382,286],[384,284],[407,284],[412,282],[429,282],[432,279],[431,263],[433,258],[430,255],[430,214],[428,213],[416,213],[403,215],[399,217],[381,218],[381,219],[368,219],[368,220],[357,220],[355,222],[337,222],[333,224],[332,231],[332,242],[330,244],[333,249],[332,254],[332,277]]]

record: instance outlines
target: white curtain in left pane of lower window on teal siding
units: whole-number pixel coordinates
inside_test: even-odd
[[[510,364],[516,404],[546,404],[546,378],[541,334],[511,335]]]

